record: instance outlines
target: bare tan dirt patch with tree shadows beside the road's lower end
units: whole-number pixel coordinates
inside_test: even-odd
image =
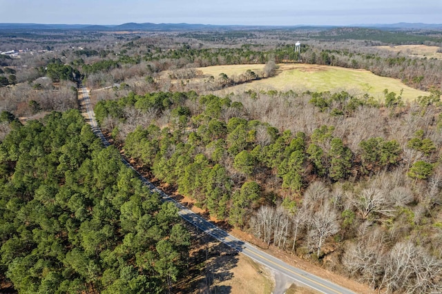
[[[173,285],[173,293],[272,293],[273,279],[267,268],[187,226],[193,237],[189,273]]]

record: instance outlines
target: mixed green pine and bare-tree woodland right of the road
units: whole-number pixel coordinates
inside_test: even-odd
[[[440,96],[131,93],[95,113],[214,217],[374,288],[421,293],[442,286]]]

